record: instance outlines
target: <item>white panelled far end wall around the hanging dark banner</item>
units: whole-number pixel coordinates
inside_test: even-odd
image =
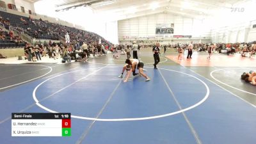
[[[193,38],[210,37],[211,31],[203,20],[180,17],[170,13],[157,13],[118,21],[118,40],[155,38],[156,24],[174,24],[173,35],[192,35]],[[127,38],[124,38],[127,37]],[[161,38],[162,39],[162,38]],[[166,38],[163,38],[166,39]],[[170,41],[170,38],[168,38]],[[177,38],[173,38],[177,40]]]

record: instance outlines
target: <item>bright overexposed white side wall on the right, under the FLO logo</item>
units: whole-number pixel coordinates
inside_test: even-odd
[[[256,40],[256,1],[238,1],[230,9],[216,11],[214,17],[207,18],[211,25],[212,42],[253,42]],[[234,10],[236,8],[236,10]]]

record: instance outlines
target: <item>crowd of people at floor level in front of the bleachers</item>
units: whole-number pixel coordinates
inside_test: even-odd
[[[114,45],[99,44],[97,42],[83,42],[82,45],[67,45],[62,42],[35,42],[33,45],[26,44],[24,47],[25,58],[28,61],[39,61],[41,57],[49,56],[49,58],[63,60],[86,60],[97,56],[105,56],[114,49]],[[92,57],[93,56],[93,57]]]

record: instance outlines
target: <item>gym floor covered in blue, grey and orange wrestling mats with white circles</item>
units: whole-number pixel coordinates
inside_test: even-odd
[[[144,77],[118,79],[126,56],[74,63],[0,64],[0,143],[255,144],[256,58],[141,49]],[[163,50],[161,50],[163,51]],[[1,63],[1,60],[0,60]],[[253,65],[254,63],[254,65]],[[12,137],[11,113],[71,113],[70,137]]]

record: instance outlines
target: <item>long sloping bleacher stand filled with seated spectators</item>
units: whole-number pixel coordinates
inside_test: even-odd
[[[68,32],[70,35],[70,42],[79,42],[83,44],[83,42],[97,42],[99,38],[101,38],[102,44],[111,45],[110,42],[102,38],[101,36],[97,35],[96,33],[92,33],[89,31],[83,31],[81,29],[70,28],[67,26],[61,26],[60,24],[54,24],[51,22],[47,22],[44,20],[33,19],[29,20],[29,17],[22,17],[20,15],[14,15],[12,13],[6,13],[0,11],[0,16],[3,17],[5,20],[10,21],[10,26],[17,28],[17,31],[22,31],[31,38],[36,39],[47,39],[47,40],[60,40],[65,37],[66,33]],[[26,22],[22,22],[21,18]],[[4,28],[9,29],[7,24],[4,24]],[[22,29],[20,29],[22,28]],[[30,30],[28,30],[30,28]],[[39,31],[40,29],[40,31]],[[36,34],[36,32],[38,35]],[[16,47],[20,45],[16,45],[15,43],[10,41],[0,41],[0,47]],[[24,44],[21,44],[24,45]]]

